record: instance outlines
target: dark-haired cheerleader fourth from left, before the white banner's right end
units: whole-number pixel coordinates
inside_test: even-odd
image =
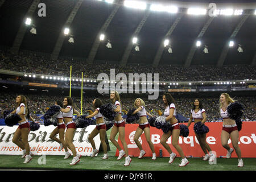
[[[94,142],[93,138],[96,137],[96,135],[98,133],[100,133],[101,145],[102,145],[102,148],[104,151],[104,156],[102,159],[108,159],[109,158],[108,153],[107,153],[108,147],[105,142],[106,125],[103,121],[103,115],[100,113],[100,106],[103,105],[103,103],[98,98],[94,99],[92,103],[93,103],[93,108],[96,110],[94,111],[93,114],[86,116],[86,118],[92,118],[94,116],[96,118],[96,128],[89,135],[89,141],[93,147],[92,158],[99,152],[95,147],[95,142]]]

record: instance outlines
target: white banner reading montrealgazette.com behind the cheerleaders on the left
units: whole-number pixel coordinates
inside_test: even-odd
[[[17,127],[18,126],[0,126],[1,155],[22,155],[21,148],[16,146],[12,141],[13,134]],[[76,129],[73,144],[76,147],[76,151],[82,156],[90,156],[90,154],[92,154],[93,148],[89,143],[88,137],[95,127],[96,125],[90,125],[84,129]],[[30,132],[28,135],[28,142],[30,144],[30,150],[34,155],[65,155],[64,148],[59,151],[60,144],[49,138],[49,135],[54,129],[55,126],[40,125],[39,130]],[[58,135],[57,138],[59,138]],[[97,135],[94,138],[94,142],[97,150],[99,150],[101,144],[100,135]],[[69,150],[69,152],[71,151]]]

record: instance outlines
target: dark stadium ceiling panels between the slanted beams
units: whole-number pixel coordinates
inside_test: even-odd
[[[32,2],[32,0],[7,0],[2,5],[0,4],[1,46],[13,47],[14,39],[20,26],[24,24],[25,15]],[[40,2],[46,4],[47,16],[39,17],[39,8],[35,10],[31,19],[36,26],[37,34],[31,34],[30,28],[27,28],[19,49],[51,54],[59,35],[63,34],[64,23],[78,0],[43,0]],[[182,0],[179,2],[250,3],[252,1]],[[104,1],[84,0],[71,26],[69,26],[75,43],[69,43],[69,37],[67,36],[64,39],[59,56],[81,57],[86,60],[94,40],[98,39],[102,25],[115,9],[115,6],[117,5]],[[256,7],[251,7],[251,9],[256,9]],[[104,32],[105,40],[100,43],[94,60],[108,60],[120,63],[134,31],[146,13],[147,10],[136,10],[125,6],[119,7],[112,22]],[[152,64],[159,46],[163,44],[164,36],[180,14],[182,13],[170,14],[150,11],[146,22],[137,35],[140,51],[135,51],[133,46],[127,64]],[[197,40],[200,31],[210,19],[209,15],[183,14],[169,38],[173,53],[168,53],[168,48],[164,48],[159,64],[184,65],[194,41]],[[200,38],[201,47],[196,48],[191,65],[216,65],[225,44],[244,16],[214,17],[205,34]],[[111,41],[112,49],[106,48],[106,39]],[[251,64],[255,60],[256,52],[256,15],[249,15],[233,40],[235,45],[229,48],[226,53],[224,64]],[[238,44],[241,44],[243,48],[242,53],[237,51]],[[204,45],[208,47],[209,53],[203,52]]]

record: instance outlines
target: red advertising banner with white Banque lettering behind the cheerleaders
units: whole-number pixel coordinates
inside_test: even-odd
[[[187,125],[187,123],[183,123]],[[188,137],[179,137],[179,145],[183,149],[184,155],[187,157],[199,157],[204,156],[203,150],[201,150],[200,144],[195,136],[195,131],[193,130],[193,123],[189,126],[189,135]],[[216,123],[205,123],[210,129],[209,133],[206,135],[207,143],[209,144],[212,151],[216,152],[217,157],[226,156],[226,149],[221,145],[221,131],[222,131],[222,122]],[[125,126],[125,140],[128,146],[129,155],[139,156],[139,148],[134,142],[134,135],[138,128],[138,124],[126,124]],[[239,132],[239,147],[242,151],[242,158],[256,158],[256,136],[255,136],[256,122],[243,122],[242,130]],[[164,157],[169,157],[170,154],[160,143],[163,131],[156,129],[156,127],[150,127],[151,141],[155,147],[156,156],[159,156],[159,150],[162,149]],[[144,136],[144,133],[139,138],[139,141],[142,144],[142,148],[146,151],[144,156],[152,156],[150,147],[148,146],[147,140]],[[122,147],[121,140],[118,138],[118,143]],[[171,137],[168,138],[167,143],[171,147],[171,150],[180,156],[176,151],[174,146],[171,144]],[[232,142],[229,139],[228,144],[233,148]],[[118,156],[118,150],[115,153],[115,156]],[[236,152],[232,154],[232,158],[237,158]]]

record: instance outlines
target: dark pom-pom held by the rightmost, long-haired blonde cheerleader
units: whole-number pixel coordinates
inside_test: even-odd
[[[243,116],[243,106],[239,102],[231,103],[228,108],[229,118],[234,119],[237,124],[237,129],[240,131],[242,129],[242,116]]]

